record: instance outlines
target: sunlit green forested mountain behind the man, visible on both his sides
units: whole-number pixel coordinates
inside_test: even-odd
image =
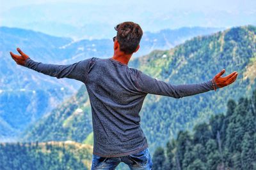
[[[234,84],[216,92],[182,99],[148,95],[140,115],[151,151],[165,146],[180,130],[192,129],[212,115],[224,113],[228,99],[237,101],[251,94],[255,87],[256,74],[252,74],[255,62],[256,27],[253,26],[196,37],[171,50],[157,50],[132,60],[130,67],[175,85],[211,80],[223,68],[227,73],[239,73]],[[23,141],[49,140],[92,141],[90,101],[84,85],[76,96],[29,127],[23,137]]]

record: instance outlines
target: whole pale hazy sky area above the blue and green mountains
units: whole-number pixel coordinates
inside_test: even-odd
[[[0,4],[0,26],[73,38],[109,37],[115,24],[127,20],[138,22],[145,31],[256,25],[256,0],[0,0]]]

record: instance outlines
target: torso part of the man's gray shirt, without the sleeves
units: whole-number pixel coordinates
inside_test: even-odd
[[[140,127],[146,95],[138,91],[136,69],[113,59],[94,58],[86,78],[93,119],[93,154],[119,157],[148,147]]]

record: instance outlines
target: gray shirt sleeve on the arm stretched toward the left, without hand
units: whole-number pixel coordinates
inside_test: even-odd
[[[85,83],[88,73],[88,67],[91,59],[81,60],[74,64],[57,65],[57,64],[44,64],[42,62],[36,62],[32,59],[26,59],[25,67],[33,69],[39,73],[43,73],[56,78],[71,78],[82,81]]]

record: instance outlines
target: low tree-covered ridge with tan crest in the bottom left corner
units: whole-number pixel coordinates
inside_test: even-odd
[[[0,143],[1,170],[90,169],[92,146],[71,141]]]

